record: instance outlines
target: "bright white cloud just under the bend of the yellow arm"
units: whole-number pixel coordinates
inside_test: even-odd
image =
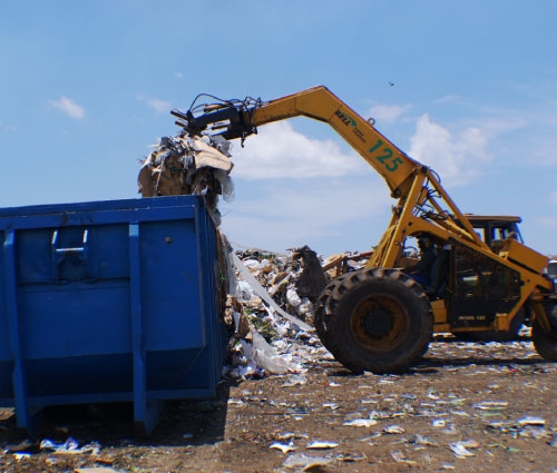
[[[262,127],[232,154],[234,174],[246,179],[335,177],[369,169],[355,152],[344,152],[333,140],[307,138],[285,121]]]

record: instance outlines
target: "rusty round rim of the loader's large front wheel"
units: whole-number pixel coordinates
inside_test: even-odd
[[[361,300],[352,312],[352,333],[365,349],[390,352],[403,339],[407,311],[388,295],[373,295]]]

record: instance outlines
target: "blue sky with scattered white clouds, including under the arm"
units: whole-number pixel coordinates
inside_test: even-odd
[[[139,198],[170,109],[321,83],[462,211],[520,215],[556,254],[556,18],[553,0],[2,2],[0,205]],[[326,125],[268,125],[232,152],[236,247],[364,252],[385,229],[387,185]]]

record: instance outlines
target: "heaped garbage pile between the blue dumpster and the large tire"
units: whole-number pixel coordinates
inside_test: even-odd
[[[315,304],[341,267],[362,267],[367,255],[323,259],[303,246],[287,255],[238,250],[231,259],[236,282],[227,311],[237,329],[224,375],[245,378],[303,373],[309,361],[331,356],[314,332]]]

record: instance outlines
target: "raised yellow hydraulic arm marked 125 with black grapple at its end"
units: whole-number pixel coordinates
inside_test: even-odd
[[[399,199],[390,225],[397,225],[398,231],[391,231],[389,240],[382,242],[381,246],[388,252],[377,253],[373,265],[394,264],[402,239],[418,229],[427,229],[424,225],[431,226],[430,230],[441,238],[449,230],[488,249],[447,195],[437,175],[399,149],[374,128],[372,119],[362,118],[326,87],[313,87],[266,102],[245,99],[193,106],[185,114],[173,110],[173,115],[179,118],[176,124],[190,135],[208,132],[242,140],[256,134],[258,126],[293,117],[304,116],[329,124],[383,177],[391,196]],[[403,213],[407,225],[401,226]],[[408,224],[413,225],[412,231]],[[380,259],[379,255],[382,255]]]

